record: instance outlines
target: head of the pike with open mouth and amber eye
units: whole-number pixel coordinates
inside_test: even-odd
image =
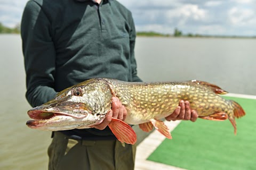
[[[62,90],[47,103],[28,111],[29,128],[59,131],[91,128],[99,124],[111,108],[111,92],[106,83],[90,80]]]

